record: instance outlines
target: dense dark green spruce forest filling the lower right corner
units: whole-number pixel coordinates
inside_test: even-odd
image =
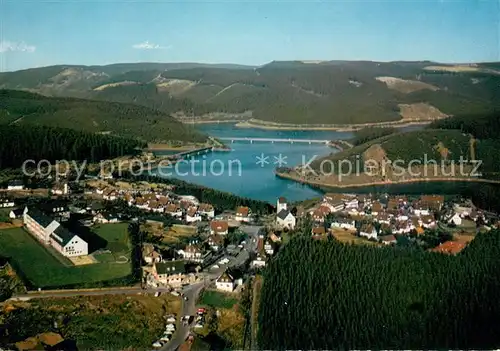
[[[270,262],[262,349],[500,346],[500,230],[458,256],[296,238]]]

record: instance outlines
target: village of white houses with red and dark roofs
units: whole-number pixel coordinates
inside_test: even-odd
[[[14,181],[0,193],[2,229],[28,233],[59,261],[74,266],[128,263],[134,260],[135,245],[140,252],[141,288],[155,296],[182,296],[185,302],[196,299],[201,288],[239,295],[246,282],[297,235],[458,254],[477,232],[498,224],[496,214],[477,209],[469,200],[445,200],[442,195],[326,193],[307,205],[280,197],[275,212],[262,216],[246,206],[217,211],[194,196],[177,194],[169,184],[110,177],[86,179],[77,187],[58,181],[40,201],[27,201],[30,193],[24,192],[24,184]],[[128,248],[119,246],[123,242],[116,237],[126,237],[131,223],[138,228],[140,241],[125,239]],[[198,290],[189,295],[186,287]],[[184,332],[205,326],[203,313],[183,324]],[[171,340],[175,323],[167,327],[154,347]]]

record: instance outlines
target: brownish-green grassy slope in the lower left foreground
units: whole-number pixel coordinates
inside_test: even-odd
[[[75,340],[80,350],[146,350],[161,335],[164,315],[179,315],[180,306],[180,299],[169,294],[31,300],[8,313],[0,312],[10,331],[8,340],[2,341],[9,344],[55,331],[53,322],[60,320],[58,332]]]

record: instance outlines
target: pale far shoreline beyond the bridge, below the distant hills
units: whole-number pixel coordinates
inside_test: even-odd
[[[257,121],[257,120],[254,120]],[[433,121],[415,121],[415,122],[379,122],[379,123],[364,123],[364,124],[346,124],[346,125],[323,125],[318,126],[314,124],[310,125],[300,125],[300,124],[279,124],[279,123],[255,123],[252,121],[244,121],[235,124],[236,128],[253,128],[253,129],[263,129],[263,130],[323,130],[323,131],[336,131],[336,132],[355,132],[357,130],[367,128],[367,127],[378,127],[378,128],[404,128],[410,126],[421,126],[432,123]]]

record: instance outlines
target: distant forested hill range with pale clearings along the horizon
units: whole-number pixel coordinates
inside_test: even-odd
[[[51,66],[0,73],[0,87],[292,124],[432,120],[500,105],[497,65],[428,61]]]

